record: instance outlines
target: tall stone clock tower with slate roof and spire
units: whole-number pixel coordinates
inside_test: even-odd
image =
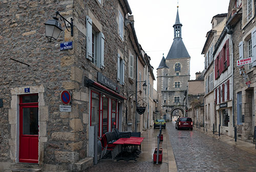
[[[179,11],[177,6],[174,24],[174,40],[166,56],[157,68],[158,110],[165,119],[187,116],[187,86],[190,78],[190,56],[182,41]],[[176,116],[176,117],[175,117]]]

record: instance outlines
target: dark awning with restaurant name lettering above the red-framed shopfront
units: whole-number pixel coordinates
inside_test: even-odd
[[[96,90],[99,90],[100,92],[103,92],[103,93],[106,93],[106,94],[109,94],[117,99],[120,99],[120,100],[127,100],[125,97],[121,96],[120,94],[104,87],[103,85],[99,84],[98,82],[95,82],[93,81],[92,79],[89,79],[87,77],[84,77],[84,86],[86,87],[93,87],[95,88]]]

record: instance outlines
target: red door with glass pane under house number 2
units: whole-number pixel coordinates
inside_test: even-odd
[[[38,163],[38,95],[19,102],[19,162]]]

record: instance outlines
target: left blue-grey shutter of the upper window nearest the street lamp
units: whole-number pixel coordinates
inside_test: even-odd
[[[86,58],[92,60],[92,19],[86,16]]]

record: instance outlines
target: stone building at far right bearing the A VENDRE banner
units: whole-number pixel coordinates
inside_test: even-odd
[[[238,139],[253,139],[255,120],[256,27],[255,1],[230,1],[228,8],[234,60],[234,126]],[[251,57],[252,63],[238,66],[237,60]]]

